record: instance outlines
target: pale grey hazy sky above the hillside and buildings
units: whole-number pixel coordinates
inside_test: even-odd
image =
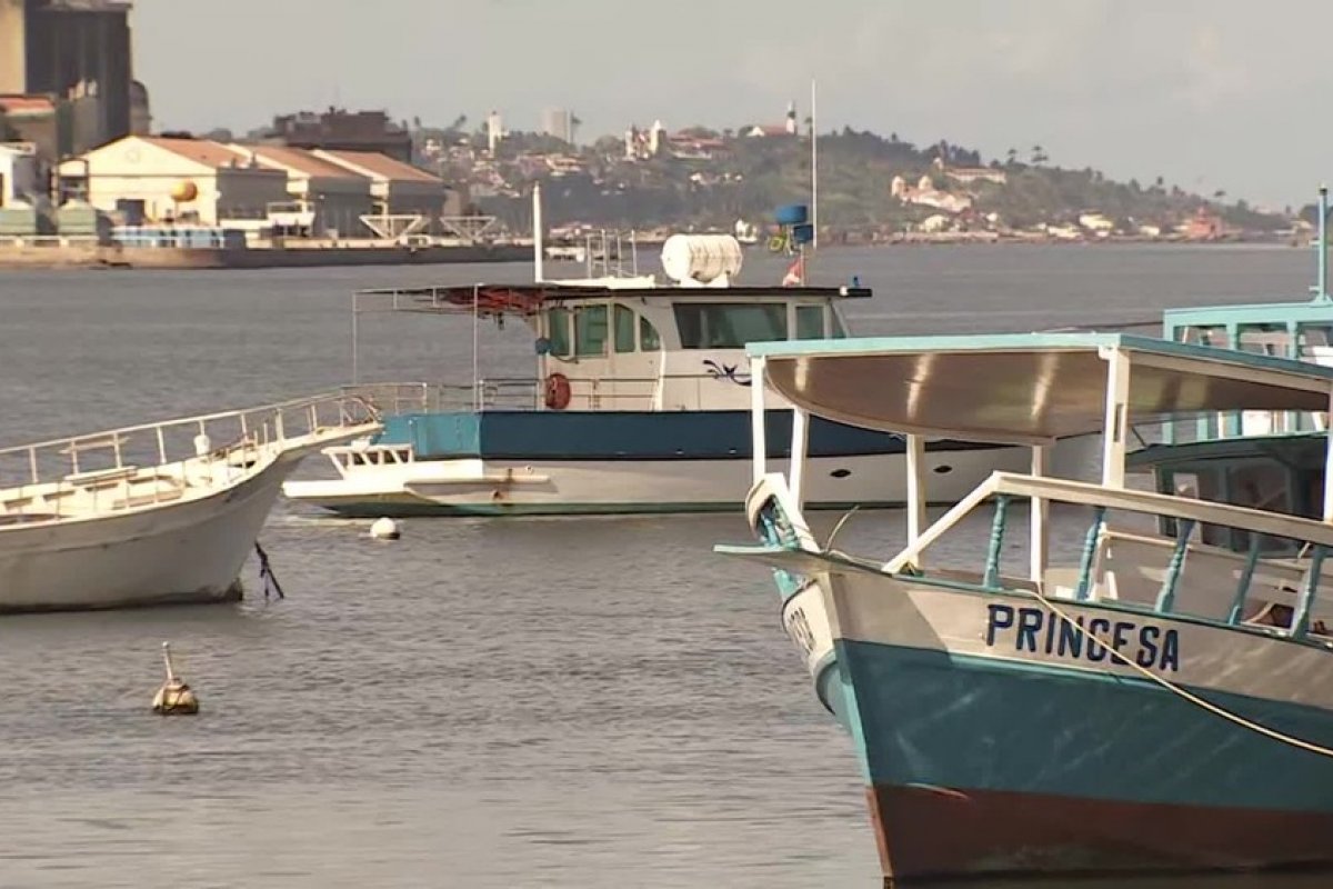
[[[1328,0],[136,0],[133,27],[165,128],[565,107],[583,140],[780,123],[790,99],[804,119],[817,77],[825,132],[1040,144],[1277,207],[1333,179]]]

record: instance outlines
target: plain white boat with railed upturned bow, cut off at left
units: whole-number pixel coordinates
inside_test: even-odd
[[[240,598],[283,480],[379,428],[329,395],[3,448],[0,612]]]

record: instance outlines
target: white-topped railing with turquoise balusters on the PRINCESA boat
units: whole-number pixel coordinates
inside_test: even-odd
[[[1006,574],[1012,506],[1020,501],[1064,504],[1090,510],[1078,558],[1044,565],[1040,576]],[[980,570],[928,565],[932,544],[954,532],[984,502],[990,502],[990,533]],[[1032,513],[1029,513],[1032,514]],[[1152,534],[1149,518],[1169,520],[1173,536]],[[1070,520],[1062,520],[1070,521]],[[1202,542],[1206,528],[1245,534],[1245,552]],[[1333,525],[1281,513],[1156,492],[1104,488],[1065,478],[997,472],[886,562],[888,573],[914,574],[980,590],[1036,589],[1074,602],[1114,601],[1158,614],[1190,616],[1228,625],[1254,624],[1273,609],[1288,617],[1272,632],[1306,638],[1325,634],[1333,600],[1321,592],[1333,582]]]

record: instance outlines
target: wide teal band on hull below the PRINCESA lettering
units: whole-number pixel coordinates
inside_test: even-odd
[[[840,721],[876,785],[1333,813],[1333,760],[1273,741],[1138,680],[1089,680],[874,642],[836,644]],[[1194,690],[1194,689],[1190,689]],[[1333,745],[1314,708],[1197,692]],[[852,705],[852,706],[849,706]],[[849,712],[854,706],[854,713]]]

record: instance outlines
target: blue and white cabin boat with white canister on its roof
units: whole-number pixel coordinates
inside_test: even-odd
[[[673,236],[663,247],[672,284],[639,273],[637,261],[623,277],[544,281],[539,261],[533,284],[357,293],[353,317],[517,319],[532,328],[536,375],[349,388],[383,409],[383,435],[329,448],[336,477],[284,490],[347,516],[736,510],[750,454],[745,343],[844,337],[840,305],[870,297],[806,285],[798,265],[796,285],[741,285],[732,236]],[[784,458],[789,412],[765,423],[766,456]],[[816,420],[810,508],[905,502],[904,454],[902,436]],[[926,461],[936,496],[949,501],[1024,454],[937,440]]]

